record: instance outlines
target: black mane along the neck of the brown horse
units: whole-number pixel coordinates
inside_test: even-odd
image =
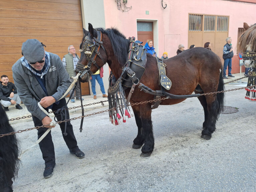
[[[106,34],[109,37],[114,50],[114,54],[120,65],[123,66],[127,61],[129,40],[126,39],[126,37],[115,28],[106,30],[103,28],[97,28],[97,30],[101,31],[103,34]]]

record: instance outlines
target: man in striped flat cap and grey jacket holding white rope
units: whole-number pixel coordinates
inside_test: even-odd
[[[48,109],[56,111],[64,107],[67,111],[66,119],[70,119],[65,98],[59,100],[71,84],[69,74],[59,56],[44,51],[43,46],[37,39],[28,39],[22,44],[23,57],[12,66],[13,79],[18,95],[28,111],[33,115],[35,127],[48,125],[51,122],[51,119],[37,106],[38,102],[46,111]],[[54,112],[54,115],[58,121],[64,120],[61,119],[60,114]],[[66,130],[65,122],[59,124],[59,126],[70,153],[79,159],[84,158],[85,154],[77,146],[70,121],[67,122]],[[38,138],[50,127],[53,126],[48,125],[46,128],[37,129]],[[55,153],[51,132],[39,143],[39,147],[45,161],[43,176],[44,178],[51,177],[55,167]]]

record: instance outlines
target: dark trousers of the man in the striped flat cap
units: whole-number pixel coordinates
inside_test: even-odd
[[[66,100],[65,98],[61,99],[59,101],[59,104],[53,104],[52,106],[52,111],[56,111],[57,109],[60,109],[63,106],[66,106]],[[44,108],[45,109],[45,108]],[[48,109],[45,109],[48,112]],[[70,119],[69,117],[69,111],[66,110],[67,112],[67,118],[66,119]],[[63,121],[65,117],[62,118],[61,120],[61,116],[59,114],[55,114],[57,121]],[[35,127],[37,126],[42,126],[42,121],[39,120],[37,117],[32,116],[33,118],[33,122]],[[71,125],[70,121],[67,122],[67,136],[63,135],[64,131],[65,131],[65,122],[59,124],[61,132],[62,132],[62,136],[64,138],[64,141],[66,142],[68,148],[70,151],[75,152],[77,150],[79,150],[78,146],[77,146],[77,140],[75,138],[74,132],[73,132],[73,126]],[[38,139],[44,134],[44,132],[47,130],[48,128],[39,128],[37,129],[37,135],[38,135]],[[56,129],[53,128],[53,129]],[[45,162],[45,167],[48,166],[54,166],[55,165],[55,153],[54,153],[54,146],[53,146],[53,142],[51,139],[51,131],[45,136],[45,138],[43,138],[43,140],[39,143],[39,147],[40,150],[42,152],[43,155],[43,159]]]

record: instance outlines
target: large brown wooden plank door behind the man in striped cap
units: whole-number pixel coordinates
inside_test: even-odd
[[[74,45],[80,56],[83,38],[80,0],[1,0],[0,76],[13,82],[12,65],[20,58],[22,43],[38,39],[45,50],[60,59]],[[89,94],[89,83],[82,83],[82,94]]]

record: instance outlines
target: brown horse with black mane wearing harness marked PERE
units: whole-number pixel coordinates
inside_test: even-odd
[[[87,73],[82,76],[81,81],[89,81],[90,74],[98,70],[96,66],[102,67],[106,62],[111,68],[113,75],[118,78],[122,72],[122,67],[127,61],[128,39],[117,29],[94,29],[90,23],[89,31],[83,30],[84,37],[80,45],[81,57],[79,63],[87,67],[85,68]],[[102,43],[100,43],[98,49],[100,56],[97,54],[95,58],[89,58],[89,60],[95,59],[96,64],[92,63],[91,67],[88,67],[88,56],[85,54],[88,47],[86,48],[85,40],[97,38],[97,34],[99,34],[97,31],[100,31],[102,36]],[[191,94],[193,91],[195,93],[208,93],[224,90],[221,60],[214,52],[206,48],[196,47],[188,49],[179,55],[165,59],[163,62],[166,64],[166,75],[172,81],[172,86],[167,91],[169,93],[186,95]],[[160,90],[160,85],[158,85],[157,61],[154,56],[148,53],[145,73],[140,79],[140,82],[153,90]],[[197,86],[201,87],[200,91],[197,91],[199,89],[195,90]],[[129,91],[130,88],[125,90],[126,98],[128,97]],[[140,91],[138,85],[136,85],[130,103],[133,104],[153,99],[153,95]],[[198,97],[198,99],[205,113],[201,138],[209,140],[216,129],[216,121],[223,109],[224,93],[203,95]],[[173,105],[184,100],[166,99],[160,105]],[[132,106],[138,127],[138,135],[133,140],[133,148],[139,149],[144,144],[141,149],[142,158],[149,158],[154,149],[151,108],[152,103]]]

